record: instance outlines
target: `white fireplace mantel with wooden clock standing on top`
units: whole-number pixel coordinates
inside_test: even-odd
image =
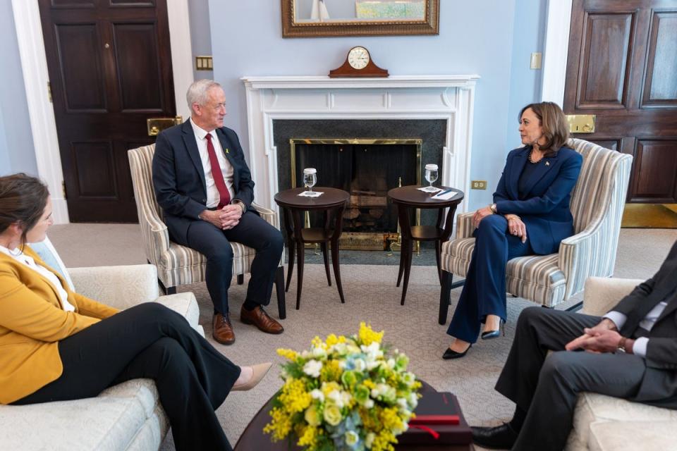
[[[256,202],[277,210],[273,202],[278,191],[275,119],[442,119],[446,121],[446,140],[441,184],[466,193],[457,210],[465,211],[470,187],[472,109],[475,82],[479,78],[479,75],[241,78],[247,93],[250,169],[256,183]]]

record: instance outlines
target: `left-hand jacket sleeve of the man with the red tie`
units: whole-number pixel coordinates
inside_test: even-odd
[[[181,143],[183,146],[183,142]],[[199,219],[200,213],[207,207],[183,194],[176,186],[176,152],[183,149],[176,147],[167,139],[166,134],[160,133],[155,141],[153,156],[153,186],[157,203],[166,213],[173,216],[188,216]]]

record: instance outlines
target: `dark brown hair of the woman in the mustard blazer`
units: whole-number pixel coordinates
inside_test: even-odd
[[[19,223],[21,246],[47,206],[49,191],[38,178],[24,173],[0,177],[0,233]]]

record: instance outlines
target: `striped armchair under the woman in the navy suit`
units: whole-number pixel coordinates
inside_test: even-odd
[[[571,139],[568,146],[583,155],[583,167],[571,193],[575,235],[562,240],[557,254],[530,255],[508,261],[508,292],[554,307],[583,291],[585,279],[614,273],[618,233],[633,157],[592,142]],[[442,245],[439,323],[446,323],[452,275],[465,276],[475,238],[472,213],[456,218],[456,239]]]

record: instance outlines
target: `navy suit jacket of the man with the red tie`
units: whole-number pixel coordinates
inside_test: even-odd
[[[254,200],[254,182],[236,132],[216,129],[224,156],[233,165],[234,199],[250,209]],[[155,141],[153,186],[157,203],[164,211],[164,222],[174,241],[186,242],[188,226],[207,209],[207,183],[197,150],[190,119],[163,130]]]

